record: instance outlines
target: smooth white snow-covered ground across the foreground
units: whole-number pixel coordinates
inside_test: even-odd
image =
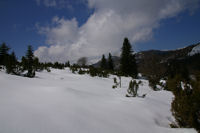
[[[40,72],[33,79],[0,72],[0,133],[196,133],[172,129],[172,93],[151,91],[142,80],[139,94],[125,97],[110,78]]]

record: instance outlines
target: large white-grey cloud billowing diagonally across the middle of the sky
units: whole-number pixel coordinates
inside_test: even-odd
[[[52,25],[38,27],[49,47],[35,55],[42,61],[77,60],[119,52],[124,37],[131,43],[147,41],[162,19],[193,11],[198,0],[88,0],[94,13],[78,27],[76,19],[54,17]]]

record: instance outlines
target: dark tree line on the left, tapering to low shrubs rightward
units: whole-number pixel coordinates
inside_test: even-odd
[[[0,69],[5,69],[6,73],[25,76],[29,78],[35,77],[36,71],[47,70],[50,72],[50,67],[64,69],[64,67],[69,67],[70,62],[66,63],[42,63],[33,54],[33,48],[28,45],[25,56],[22,56],[21,60],[18,60],[15,52],[10,53],[10,47],[6,43],[0,45]]]

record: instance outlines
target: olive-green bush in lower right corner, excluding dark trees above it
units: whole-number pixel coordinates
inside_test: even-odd
[[[187,81],[177,74],[168,79],[167,88],[175,95],[171,110],[178,126],[195,128],[200,132],[200,80],[198,76],[197,74],[194,81]]]

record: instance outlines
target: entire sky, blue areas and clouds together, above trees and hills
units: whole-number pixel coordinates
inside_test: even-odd
[[[0,43],[40,61],[169,50],[200,42],[199,0],[0,0]]]

